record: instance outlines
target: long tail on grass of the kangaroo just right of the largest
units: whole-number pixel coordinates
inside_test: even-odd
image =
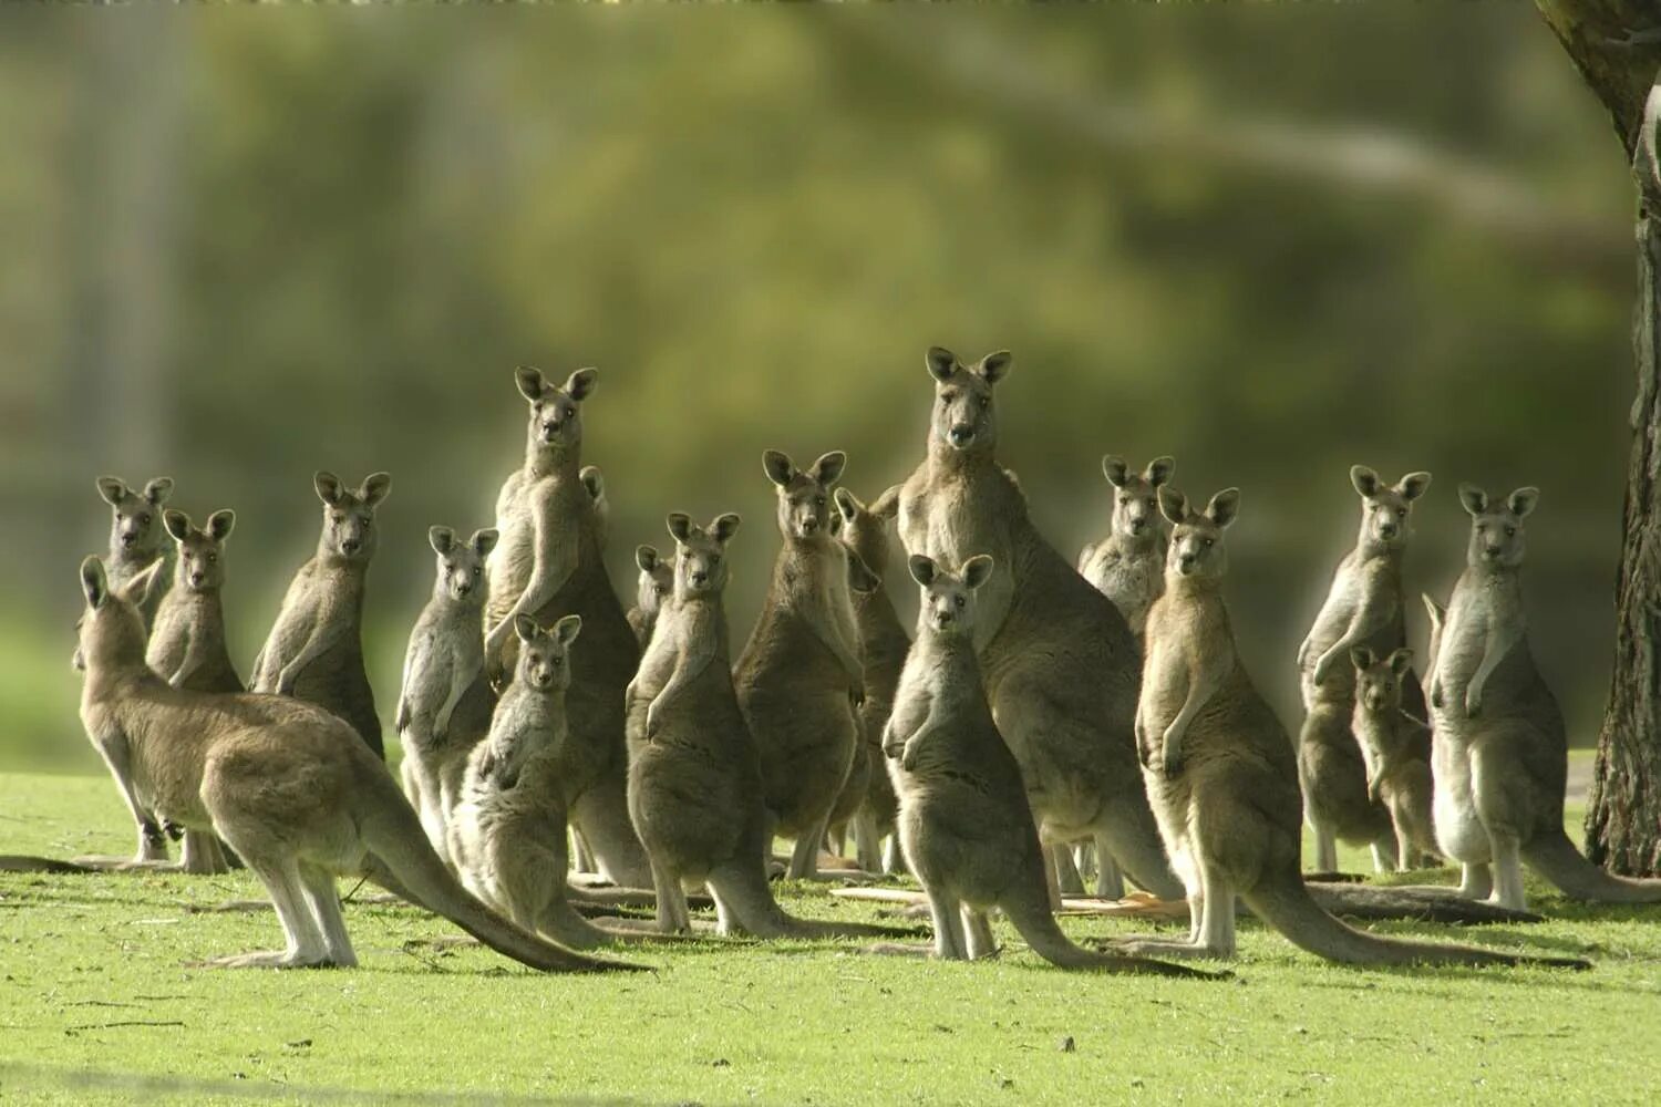
[[[1241,896],[1264,923],[1281,931],[1299,949],[1344,964],[1533,964],[1590,969],[1576,958],[1525,958],[1477,946],[1379,938],[1345,926],[1319,906],[1296,871],[1262,880]]]

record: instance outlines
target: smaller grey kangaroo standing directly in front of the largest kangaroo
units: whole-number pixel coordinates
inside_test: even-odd
[[[1061,933],[1020,765],[992,719],[975,661],[975,593],[993,573],[992,558],[970,558],[953,574],[914,554],[910,573],[922,586],[917,644],[882,749],[900,795],[905,860],[928,893],[935,956],[997,953],[987,913],[1002,908],[1033,953],[1061,968],[1211,976],[1081,949]]]

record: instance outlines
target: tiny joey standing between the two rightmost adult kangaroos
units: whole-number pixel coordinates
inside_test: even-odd
[[[1395,871],[1430,863],[1437,850],[1432,823],[1430,725],[1402,709],[1402,680],[1414,651],[1375,657],[1365,646],[1350,649],[1355,666],[1355,715],[1350,729],[1367,758],[1367,797],[1384,803],[1395,827]]]

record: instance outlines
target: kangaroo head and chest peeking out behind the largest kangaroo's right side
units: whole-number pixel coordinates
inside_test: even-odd
[[[1113,601],[1131,634],[1141,639],[1148,607],[1164,591],[1164,526],[1159,521],[1159,486],[1176,473],[1176,460],[1154,458],[1134,473],[1124,458],[1106,455],[1101,473],[1113,485],[1113,521],[1108,536],[1085,546],[1078,571]]]

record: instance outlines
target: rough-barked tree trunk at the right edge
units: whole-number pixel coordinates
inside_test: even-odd
[[[1661,871],[1661,8],[1654,0],[1536,0],[1610,110],[1638,186],[1633,453],[1614,583],[1614,674],[1598,735],[1586,853],[1614,871]]]

